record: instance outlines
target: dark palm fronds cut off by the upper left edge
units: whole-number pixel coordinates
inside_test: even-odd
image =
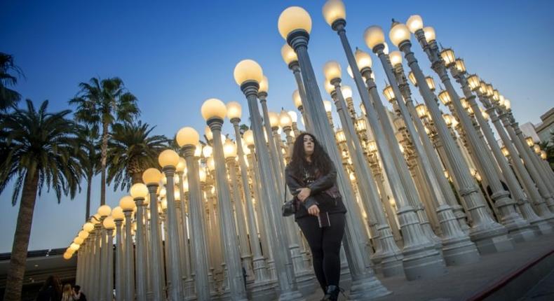
[[[0,111],[6,111],[20,101],[21,95],[8,86],[17,84],[18,76],[22,74],[21,69],[13,64],[13,56],[0,52]]]

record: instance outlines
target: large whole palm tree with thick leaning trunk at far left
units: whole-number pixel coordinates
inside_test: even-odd
[[[46,184],[48,191],[54,190],[59,203],[62,195],[73,198],[81,190],[78,127],[66,118],[71,111],[48,113],[48,101],[38,111],[29,99],[26,104],[27,110],[15,109],[0,116],[0,128],[4,129],[0,144],[7,150],[0,155],[0,193],[15,179],[15,206],[21,192],[4,300],[21,300],[37,192],[41,195]]]

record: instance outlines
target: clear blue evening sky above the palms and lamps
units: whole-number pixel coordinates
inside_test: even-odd
[[[380,25],[388,33],[391,18],[412,14],[435,27],[437,40],[463,57],[468,71],[491,81],[512,101],[521,123],[539,122],[550,109],[554,63],[553,1],[345,1],[346,30],[353,47],[365,51],[363,31]],[[323,64],[346,58],[335,31],[323,20],[324,1],[2,1],[0,51],[13,54],[25,79],[15,87],[23,97],[50,110],[67,109],[77,85],[93,76],[119,76],[140,99],[141,119],[156,134],[173,137],[189,125],[203,132],[200,107],[205,99],[246,102],[233,79],[241,59],[255,59],[269,78],[270,111],[293,109],[292,74],[281,59],[284,41],[277,31],[281,11],[302,6],[311,14],[309,52],[321,86]],[[389,43],[390,44],[390,43]],[[424,71],[438,78],[417,43],[414,52]],[[384,72],[373,56],[379,90]],[[405,69],[407,67],[405,66]],[[324,98],[330,97],[321,88]],[[417,100],[421,97],[416,95]],[[355,102],[358,102],[355,96]],[[246,120],[247,116],[243,116]],[[338,123],[338,118],[335,118]],[[231,132],[229,125],[224,131]],[[93,183],[93,212],[100,184]],[[36,202],[29,249],[65,247],[83,223],[85,194],[74,200],[44,193]],[[123,192],[108,188],[107,204]],[[0,195],[0,252],[11,251],[18,206],[11,188]]]

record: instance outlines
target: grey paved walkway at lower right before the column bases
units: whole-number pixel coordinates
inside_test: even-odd
[[[375,300],[467,300],[469,297],[490,288],[502,276],[514,272],[518,268],[554,250],[554,235],[542,235],[532,241],[515,244],[513,251],[482,255],[480,261],[448,267],[448,273],[433,279],[406,281],[404,277],[384,278],[377,275],[381,282],[389,288],[391,295]],[[552,267],[554,271],[554,266]],[[554,300],[554,272],[545,278],[542,285],[530,290],[522,300]],[[348,293],[348,291],[346,292]],[[539,299],[536,297],[542,297]],[[317,292],[308,298],[309,301],[320,300]],[[341,297],[339,300],[346,300]]]

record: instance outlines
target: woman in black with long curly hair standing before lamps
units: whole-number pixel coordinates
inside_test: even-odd
[[[295,195],[295,221],[310,246],[323,300],[337,300],[346,213],[335,183],[337,169],[316,137],[302,133],[295,140],[285,174],[290,193]]]

